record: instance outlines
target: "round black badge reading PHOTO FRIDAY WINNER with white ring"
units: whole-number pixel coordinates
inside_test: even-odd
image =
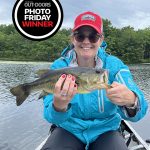
[[[12,12],[20,34],[31,40],[45,40],[61,27],[63,10],[57,0],[18,0]]]

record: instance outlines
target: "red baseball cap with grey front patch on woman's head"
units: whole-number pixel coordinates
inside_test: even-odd
[[[74,32],[82,26],[90,26],[93,27],[98,33],[103,33],[102,18],[93,12],[87,11],[77,16],[72,31]]]

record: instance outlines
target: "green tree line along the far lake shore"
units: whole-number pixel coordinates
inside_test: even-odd
[[[150,27],[134,30],[127,26],[113,27],[104,23],[106,51],[126,63],[150,62]],[[53,61],[70,44],[71,29],[60,29],[44,41],[32,41],[21,36],[13,24],[0,25],[0,60]]]

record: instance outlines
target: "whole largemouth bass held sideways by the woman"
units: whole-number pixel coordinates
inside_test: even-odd
[[[89,93],[95,89],[110,88],[110,85],[108,85],[108,71],[104,69],[67,67],[57,70],[39,70],[39,74],[41,75],[39,79],[10,89],[10,92],[16,96],[17,106],[21,105],[33,91],[44,91],[42,96],[53,93],[55,84],[62,74],[75,76],[78,93]]]

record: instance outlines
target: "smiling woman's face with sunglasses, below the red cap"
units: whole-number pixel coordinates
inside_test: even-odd
[[[102,41],[103,36],[89,26],[80,27],[72,36],[72,43],[77,57],[83,59],[94,59]]]

